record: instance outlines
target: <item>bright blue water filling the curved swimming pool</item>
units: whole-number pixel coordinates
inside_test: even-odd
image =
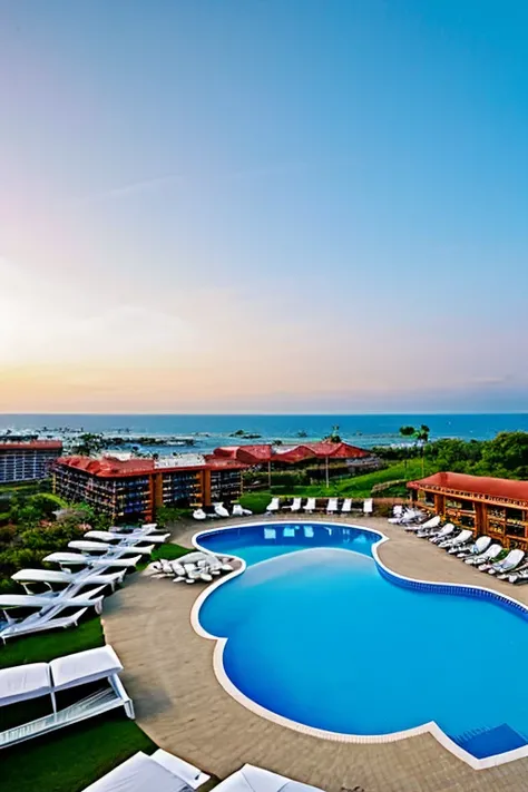
[[[495,600],[395,585],[372,557],[378,540],[321,524],[199,536],[248,565],[199,612],[227,638],[229,679],[266,710],[331,732],[436,721],[479,759],[525,745],[528,622]]]

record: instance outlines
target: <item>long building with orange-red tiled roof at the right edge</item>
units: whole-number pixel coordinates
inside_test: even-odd
[[[408,487],[413,502],[426,511],[505,547],[528,550],[528,481],[444,472]]]

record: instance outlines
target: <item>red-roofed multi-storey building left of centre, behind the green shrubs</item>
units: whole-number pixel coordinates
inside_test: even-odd
[[[52,482],[57,495],[89,503],[113,520],[150,521],[162,506],[195,508],[236,500],[246,467],[197,453],[164,459],[62,457],[53,465]]]

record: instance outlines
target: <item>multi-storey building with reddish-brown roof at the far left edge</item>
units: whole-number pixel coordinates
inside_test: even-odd
[[[38,481],[62,453],[60,440],[0,442],[0,483]]]

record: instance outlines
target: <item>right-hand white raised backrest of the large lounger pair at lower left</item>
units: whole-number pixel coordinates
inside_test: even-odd
[[[57,657],[51,661],[49,667],[56,691],[66,691],[76,685],[87,685],[123,671],[119,657],[111,646],[98,646],[96,649]]]

